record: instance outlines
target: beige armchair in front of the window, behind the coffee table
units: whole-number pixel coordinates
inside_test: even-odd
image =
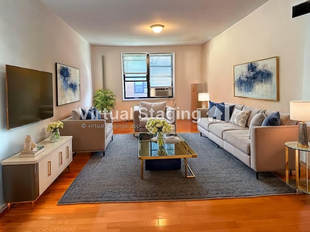
[[[139,132],[148,132],[145,124],[149,117],[160,117],[174,125],[176,131],[176,110],[167,105],[167,102],[140,102],[134,106],[134,135]]]

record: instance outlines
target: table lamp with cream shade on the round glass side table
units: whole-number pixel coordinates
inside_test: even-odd
[[[309,147],[306,121],[310,121],[310,101],[291,101],[290,118],[299,122],[298,146]]]

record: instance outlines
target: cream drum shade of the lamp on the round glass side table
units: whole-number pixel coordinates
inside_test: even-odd
[[[310,101],[291,101],[290,118],[296,121],[310,121]]]

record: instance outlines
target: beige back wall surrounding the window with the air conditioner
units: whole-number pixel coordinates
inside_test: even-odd
[[[175,100],[167,104],[190,110],[190,84],[202,83],[202,46],[113,47],[93,46],[94,88],[111,89],[116,95],[116,111],[130,111],[140,101],[123,101],[122,52],[175,52]],[[162,101],[162,100],[160,100]],[[166,100],[164,100],[166,101]],[[113,111],[114,116],[115,111]],[[121,115],[121,113],[120,113]],[[124,114],[123,114],[124,115]],[[126,119],[132,119],[130,115]],[[124,118],[123,118],[124,119]],[[116,121],[118,119],[115,119]]]

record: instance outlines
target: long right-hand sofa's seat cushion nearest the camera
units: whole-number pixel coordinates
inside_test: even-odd
[[[242,152],[250,155],[250,139],[248,138],[248,130],[242,131],[225,131],[223,133],[223,140]]]

